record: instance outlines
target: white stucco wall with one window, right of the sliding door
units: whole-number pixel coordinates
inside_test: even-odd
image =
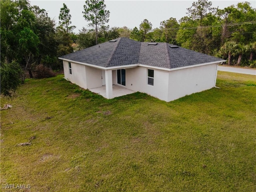
[[[154,85],[148,85],[148,69],[154,70]],[[167,100],[169,72],[146,67],[126,69],[126,88]]]

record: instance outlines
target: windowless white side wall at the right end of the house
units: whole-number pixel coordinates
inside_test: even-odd
[[[217,64],[170,71],[168,102],[215,86]]]

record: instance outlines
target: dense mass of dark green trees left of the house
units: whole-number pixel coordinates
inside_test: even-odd
[[[0,1],[0,4],[1,64],[4,61],[6,68],[17,62],[25,69],[19,75],[24,83],[26,70],[32,78],[31,68],[41,62],[50,67],[57,60],[55,22],[48,17],[46,10],[30,6],[28,0]]]

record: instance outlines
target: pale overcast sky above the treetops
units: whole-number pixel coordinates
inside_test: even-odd
[[[152,23],[152,28],[159,28],[160,22],[173,17],[176,20],[186,16],[186,8],[192,6],[195,0],[105,0],[106,10],[110,11],[108,25],[111,27],[128,28],[139,27],[140,23],[147,19]],[[212,7],[223,9],[230,5],[236,5],[242,0],[212,0]],[[248,0],[252,8],[256,8],[255,0]],[[85,0],[30,0],[32,6],[37,5],[48,12],[50,18],[54,18],[58,24],[58,16],[63,3],[70,9],[72,25],[76,26],[73,32],[78,33],[82,27],[87,28],[88,22],[84,20],[82,11]]]

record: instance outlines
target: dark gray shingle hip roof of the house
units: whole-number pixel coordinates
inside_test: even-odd
[[[117,38],[116,42],[105,42],[60,59],[72,60],[102,67],[143,64],[161,68],[179,68],[209,62],[223,62],[223,59],[202,54],[186,48],[170,48],[172,44],[138,42],[129,38]]]

